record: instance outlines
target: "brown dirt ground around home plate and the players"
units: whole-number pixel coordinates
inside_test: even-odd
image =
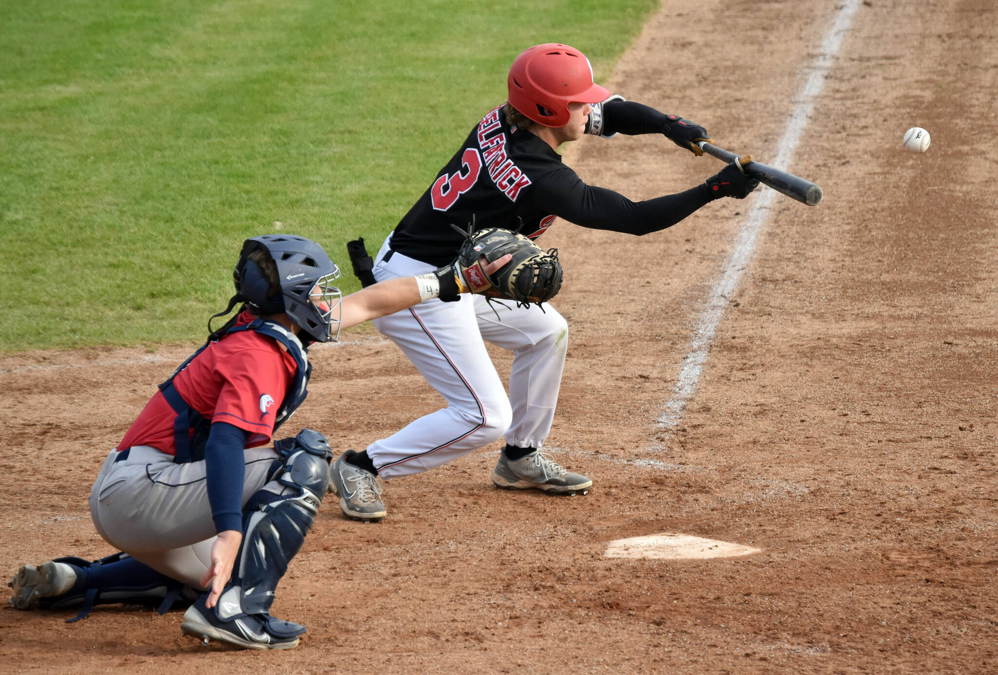
[[[771,160],[840,5],[665,0],[611,89]],[[545,236],[571,331],[549,445],[588,496],[494,489],[497,444],[386,484],[382,523],[323,506],[274,604],[308,626],[293,651],[205,648],[176,612],[4,607],[0,671],[998,672],[995,25],[993,0],[859,5],[787,167],[824,200],[773,200],[673,430],[656,420],[757,195],[644,238]],[[912,126],[924,155],[901,148]],[[567,161],[633,199],[721,168],[648,138]],[[111,552],[86,495],[189,350],[0,358],[0,569]],[[313,360],[295,424],[337,448],[442,402],[371,333]],[[665,532],[761,552],[603,557]]]

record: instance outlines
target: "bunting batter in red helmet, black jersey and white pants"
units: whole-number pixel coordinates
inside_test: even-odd
[[[736,164],[685,192],[632,202],[586,185],[556,152],[583,134],[662,134],[681,148],[707,131],[689,120],[625,101],[593,82],[589,60],[562,44],[531,47],[513,62],[508,100],[475,125],[457,153],[402,218],[378,253],[379,281],[420,275],[453,260],[462,236],[451,225],[500,227],[536,239],[556,218],[586,228],[647,235],[713,200],[743,199],[757,182]],[[492,474],[505,488],[585,492],[592,481],[542,451],[558,400],[568,326],[549,305],[488,305],[480,296],[434,301],[374,322],[447,400],[332,467],[340,508],[377,520],[386,511],[375,476],[418,473],[505,436]],[[512,349],[509,391],[483,340]]]

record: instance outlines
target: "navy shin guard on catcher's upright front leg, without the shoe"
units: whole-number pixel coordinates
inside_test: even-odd
[[[277,582],[304,543],[328,488],[332,450],[325,436],[303,429],[274,447],[283,465],[244,511],[237,572],[218,604],[223,619],[268,613]]]

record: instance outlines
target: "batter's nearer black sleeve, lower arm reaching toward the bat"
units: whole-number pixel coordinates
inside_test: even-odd
[[[706,184],[644,202],[632,202],[605,188],[583,183],[565,168],[543,176],[530,191],[531,206],[570,223],[629,235],[672,227],[711,201]]]

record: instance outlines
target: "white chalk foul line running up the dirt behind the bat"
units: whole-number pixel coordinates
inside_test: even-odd
[[[793,159],[793,153],[800,142],[800,136],[807,126],[814,110],[814,99],[821,93],[824,86],[824,78],[831,69],[838,48],[842,45],[842,39],[849,29],[852,16],[859,6],[860,0],[846,0],[839,8],[831,28],[825,35],[824,42],[821,43],[820,55],[814,62],[807,66],[811,71],[807,77],[807,82],[797,96],[797,104],[790,114],[790,119],[779,140],[776,150],[776,159],[773,166],[786,167]],[[673,389],[672,397],[666,401],[665,409],[659,415],[659,425],[671,429],[679,424],[683,418],[683,412],[687,403],[693,397],[697,389],[697,382],[700,380],[701,372],[704,370],[704,362],[707,354],[711,350],[711,342],[714,341],[714,334],[721,322],[721,317],[728,307],[729,299],[735,293],[742,279],[742,273],[749,266],[752,254],[755,249],[755,239],[765,225],[769,214],[769,205],[773,196],[773,190],[760,190],[749,206],[745,223],[739,231],[736,240],[735,251],[731,260],[725,268],[725,273],[715,285],[710,299],[707,302],[703,314],[697,322],[697,332],[690,340],[690,352],[686,357],[683,368],[680,370],[679,378]]]

